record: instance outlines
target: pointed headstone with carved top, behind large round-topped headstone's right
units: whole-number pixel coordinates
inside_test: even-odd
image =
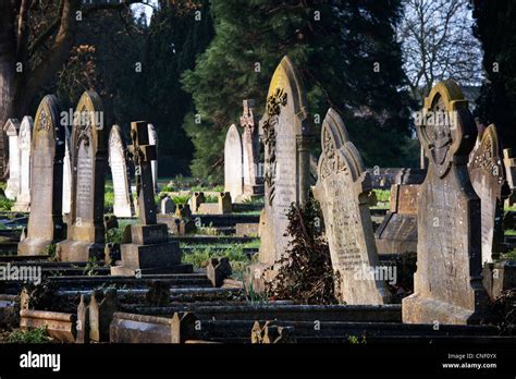
[[[503,199],[508,195],[496,127],[491,124],[479,139],[469,162],[469,178],[480,197],[482,264],[492,262],[502,249]]]

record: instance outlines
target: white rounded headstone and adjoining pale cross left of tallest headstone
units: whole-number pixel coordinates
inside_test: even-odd
[[[228,130],[224,144],[224,191],[234,203],[263,195],[263,180],[260,175],[260,142],[255,101],[244,100],[241,136],[235,124]]]

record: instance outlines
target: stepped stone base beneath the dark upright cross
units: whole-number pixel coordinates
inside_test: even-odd
[[[112,276],[189,273],[192,265],[181,264],[177,242],[169,242],[167,224],[131,225],[132,243],[121,247],[122,265],[111,267]]]

